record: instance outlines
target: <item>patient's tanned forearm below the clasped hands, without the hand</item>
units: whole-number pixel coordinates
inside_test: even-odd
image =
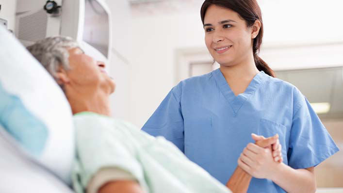
[[[237,166],[226,184],[226,187],[228,187],[232,193],[246,193],[248,191],[251,178],[250,174],[245,172],[240,166]]]

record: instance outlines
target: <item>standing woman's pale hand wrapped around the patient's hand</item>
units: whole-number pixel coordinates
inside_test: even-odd
[[[278,135],[272,139],[277,142]],[[258,144],[258,141],[256,143]],[[238,159],[238,165],[253,177],[270,179],[280,164],[274,161],[272,146],[261,147],[253,143],[248,144]]]

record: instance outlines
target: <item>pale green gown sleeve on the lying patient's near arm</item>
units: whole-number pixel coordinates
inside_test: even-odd
[[[106,174],[107,178],[118,180],[120,177],[130,177],[147,190],[144,170],[135,157],[135,147],[132,143],[134,139],[123,132],[125,128],[116,129],[118,126],[113,125],[113,122],[94,115],[74,117],[74,123],[77,145],[77,161],[73,171],[74,187],[85,189],[99,172],[104,173],[103,169],[107,168],[106,171],[111,169],[111,175]]]

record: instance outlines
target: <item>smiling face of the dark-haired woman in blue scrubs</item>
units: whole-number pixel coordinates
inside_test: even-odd
[[[211,5],[205,14],[204,30],[206,47],[217,63],[240,64],[252,54],[252,28],[236,12]]]

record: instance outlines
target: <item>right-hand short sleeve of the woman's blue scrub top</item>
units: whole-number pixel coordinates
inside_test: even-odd
[[[287,153],[288,165],[294,169],[316,166],[339,151],[310,102],[302,94],[298,101]]]

